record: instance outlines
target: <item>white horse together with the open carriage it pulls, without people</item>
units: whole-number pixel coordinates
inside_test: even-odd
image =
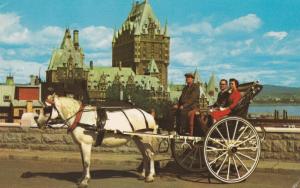
[[[249,177],[259,161],[261,139],[256,128],[245,118],[249,104],[261,91],[262,85],[258,82],[251,82],[241,84],[238,89],[242,97],[231,114],[214,124],[211,123],[212,121],[204,121],[205,126],[209,128],[205,131],[201,129],[203,125],[197,126],[196,124],[192,136],[180,135],[175,131],[169,134],[149,131],[151,128],[156,129],[154,119],[150,114],[139,109],[119,109],[119,112],[108,113],[108,119],[113,120],[115,117],[121,116],[123,119],[119,118],[118,121],[106,123],[103,128],[103,126],[99,126],[99,122],[103,125],[103,119],[100,118],[99,120],[103,111],[99,114],[97,109],[84,108],[76,100],[60,99],[57,96],[48,102],[51,106],[51,109],[47,110],[49,113],[40,115],[37,123],[40,127],[47,124],[50,119],[54,119],[52,114],[56,111],[64,119],[64,123],[68,125],[69,129],[73,127],[71,130],[72,137],[78,143],[83,158],[84,172],[81,179],[83,185],[87,185],[87,181],[90,179],[91,147],[97,140],[96,138],[99,137],[98,133],[102,131],[101,129],[108,132],[107,137],[118,139],[119,145],[125,143],[128,137],[133,138],[143,155],[144,169],[150,168],[148,175],[147,171],[144,171],[145,181],[153,181],[155,171],[153,150],[149,144],[145,144],[143,138],[155,137],[170,141],[173,158],[183,169],[190,172],[209,171],[212,176],[222,182],[237,183]],[[198,114],[198,116],[203,116],[203,114]],[[87,119],[88,123],[80,123],[80,118]],[[138,126],[143,124],[145,129],[141,126],[137,127],[134,122],[137,122]],[[75,124],[81,125],[74,127]],[[127,124],[127,128],[122,128],[121,124]],[[91,125],[96,126],[93,128]],[[111,143],[106,142],[105,144]]]

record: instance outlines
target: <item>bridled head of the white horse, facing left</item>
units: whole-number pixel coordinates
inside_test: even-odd
[[[35,121],[39,128],[46,128],[48,122],[51,119],[56,119],[59,112],[56,107],[57,95],[49,95],[44,103],[43,113],[40,113],[38,117],[35,117]]]

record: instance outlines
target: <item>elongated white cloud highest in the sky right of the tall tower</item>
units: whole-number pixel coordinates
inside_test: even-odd
[[[239,17],[232,21],[226,22],[215,29],[217,34],[223,34],[228,32],[252,32],[258,29],[262,24],[262,21],[255,14],[248,14],[246,16]]]

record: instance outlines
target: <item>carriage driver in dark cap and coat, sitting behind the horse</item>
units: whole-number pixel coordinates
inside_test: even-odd
[[[174,106],[177,110],[179,134],[193,135],[194,116],[195,112],[199,110],[199,86],[194,83],[194,74],[187,73],[184,75],[186,86],[183,88],[178,104]]]

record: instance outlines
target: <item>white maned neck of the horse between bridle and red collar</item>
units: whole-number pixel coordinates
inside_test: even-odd
[[[78,112],[81,102],[70,97],[58,97],[61,105],[61,113],[64,118],[71,117]]]

